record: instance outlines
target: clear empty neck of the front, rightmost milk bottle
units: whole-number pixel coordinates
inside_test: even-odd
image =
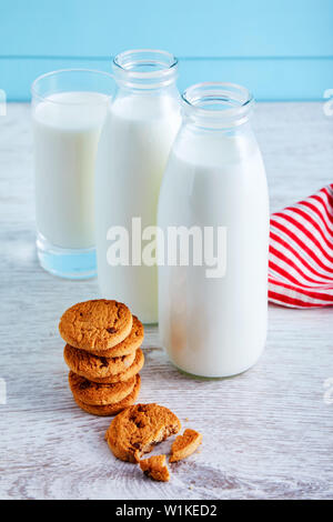
[[[185,122],[225,132],[245,126],[254,106],[248,89],[226,82],[198,83],[183,93],[182,101]]]

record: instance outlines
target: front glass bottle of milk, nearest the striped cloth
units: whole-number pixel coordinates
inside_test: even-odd
[[[160,335],[179,369],[223,378],[252,367],[265,344],[266,177],[246,89],[201,83],[182,98],[184,121],[159,202],[159,255],[168,248],[159,267]]]

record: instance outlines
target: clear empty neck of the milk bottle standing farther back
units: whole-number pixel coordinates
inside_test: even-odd
[[[175,86],[178,60],[167,51],[125,51],[114,58],[113,71],[120,88],[158,91]]]

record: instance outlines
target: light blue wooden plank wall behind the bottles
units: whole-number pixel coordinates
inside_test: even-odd
[[[29,100],[39,74],[110,70],[125,49],[180,58],[179,87],[233,81],[259,100],[333,88],[333,0],[0,0],[0,89]]]

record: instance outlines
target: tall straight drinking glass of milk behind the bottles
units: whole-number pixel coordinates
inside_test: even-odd
[[[69,279],[95,275],[94,165],[114,91],[111,74],[62,70],[32,84],[37,249]]]

